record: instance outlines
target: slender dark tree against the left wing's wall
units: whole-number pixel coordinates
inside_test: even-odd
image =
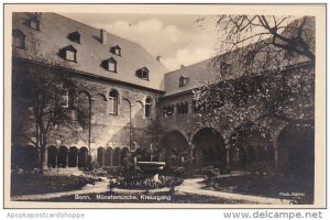
[[[26,40],[25,50],[13,48],[12,129],[13,138],[23,136],[33,143],[43,173],[51,127],[69,122],[64,108],[63,84],[70,66],[58,62],[54,54],[43,53],[41,42],[33,34],[28,36],[31,37]],[[34,124],[34,129],[23,124]]]

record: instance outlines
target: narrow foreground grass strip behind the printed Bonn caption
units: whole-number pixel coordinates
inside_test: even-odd
[[[122,196],[121,194],[117,193],[103,193],[102,196]],[[86,198],[86,196],[89,199],[75,199],[75,196],[65,196],[59,198],[53,198],[53,199],[45,199],[40,201],[52,201],[52,202],[108,202],[108,204],[243,204],[242,201],[237,200],[230,200],[230,199],[221,199],[217,197],[209,197],[209,196],[199,196],[199,195],[191,195],[191,194],[173,194],[173,193],[158,193],[153,194],[154,196],[158,196],[160,198],[164,198],[164,196],[167,196],[168,199],[142,199],[143,196],[141,195],[132,195],[135,196],[136,199],[97,199],[96,194],[87,194],[81,195]]]

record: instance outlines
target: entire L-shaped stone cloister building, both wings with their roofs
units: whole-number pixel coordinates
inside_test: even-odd
[[[15,92],[18,78],[35,66],[52,74],[66,73],[56,88],[69,122],[50,125],[44,162],[48,167],[86,167],[94,160],[101,166],[119,167],[138,148],[151,146],[160,150],[158,160],[167,164],[177,154],[182,163],[190,160],[194,167],[224,169],[293,161],[305,167],[314,163],[311,130],[277,120],[272,130],[261,133],[249,122],[254,111],[244,121],[217,114],[216,123],[199,114],[194,91],[219,79],[210,61],[168,73],[139,44],[55,13],[14,13],[12,44],[13,163],[36,166],[38,160],[33,109]],[[33,50],[36,53],[31,55]],[[51,62],[42,64],[38,56]],[[306,61],[295,61],[282,72],[300,69],[314,74]],[[235,147],[232,136],[239,138]]]

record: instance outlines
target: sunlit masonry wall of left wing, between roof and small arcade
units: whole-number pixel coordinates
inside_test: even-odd
[[[25,73],[13,70],[13,74],[19,76]],[[100,146],[136,150],[136,147],[150,147],[151,143],[156,142],[154,128],[157,119],[158,92],[76,73],[72,73],[68,79],[77,88],[75,109],[67,110],[70,121],[51,125],[47,134],[48,146],[59,147],[64,145],[66,147],[76,146],[77,148],[90,146],[91,156],[96,157],[97,148]],[[109,112],[109,92],[112,89],[119,94],[118,114]],[[152,99],[150,117],[144,114],[146,98]],[[80,120],[82,123],[78,123],[77,109],[80,111],[80,117],[84,116],[84,119]],[[32,145],[26,139],[35,140],[32,107],[24,102],[20,95],[16,95],[13,100],[12,112],[12,122],[16,124],[12,128],[13,145]]]

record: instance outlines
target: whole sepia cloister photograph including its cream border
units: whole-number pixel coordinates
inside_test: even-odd
[[[324,207],[324,6],[4,13],[4,207]]]

